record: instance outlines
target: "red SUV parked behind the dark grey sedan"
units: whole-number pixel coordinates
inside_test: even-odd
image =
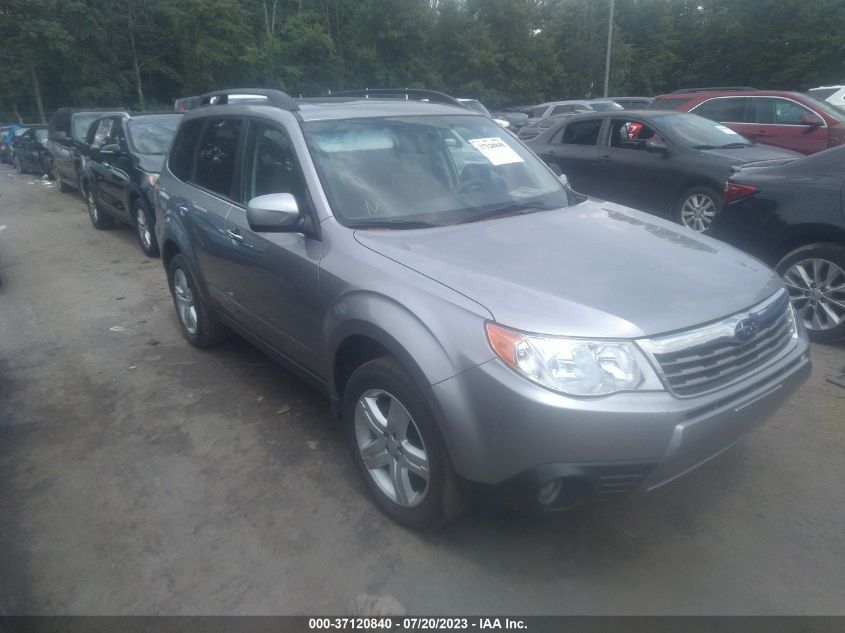
[[[758,143],[813,154],[845,144],[845,114],[800,92],[695,88],[660,95],[651,110],[681,110],[724,123]]]

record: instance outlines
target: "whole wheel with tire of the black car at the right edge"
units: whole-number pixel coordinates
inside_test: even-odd
[[[778,262],[777,271],[813,341],[845,338],[845,247],[820,243],[796,248]]]

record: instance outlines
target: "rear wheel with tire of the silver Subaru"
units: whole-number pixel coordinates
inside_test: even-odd
[[[179,327],[187,341],[195,347],[210,347],[225,340],[229,331],[214,318],[197,292],[194,276],[182,255],[176,255],[170,262],[167,279]]]

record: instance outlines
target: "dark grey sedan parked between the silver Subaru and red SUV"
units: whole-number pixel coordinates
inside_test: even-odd
[[[694,114],[663,111],[578,114],[527,145],[565,173],[576,191],[700,232],[721,208],[732,167],[801,156]]]

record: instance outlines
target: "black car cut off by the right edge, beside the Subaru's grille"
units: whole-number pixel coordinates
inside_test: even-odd
[[[713,236],[781,274],[810,338],[845,338],[845,146],[742,168],[724,203]]]

